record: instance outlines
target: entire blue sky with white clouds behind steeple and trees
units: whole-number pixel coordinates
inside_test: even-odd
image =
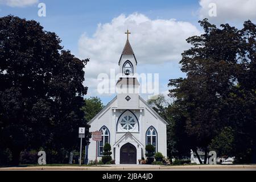
[[[40,2],[46,4],[46,17],[38,16]],[[217,5],[214,18],[208,17],[210,2]],[[245,2],[247,5],[243,6]],[[241,27],[244,20],[255,20],[255,7],[255,1],[251,0],[0,0],[0,16],[12,14],[34,19],[44,30],[56,32],[64,49],[71,50],[79,58],[90,57],[90,65],[85,69],[85,85],[89,87],[87,97],[98,96],[107,104],[114,94],[97,93],[95,80],[102,72],[98,67],[118,68],[126,39],[123,32],[127,27],[132,32],[130,43],[137,55],[138,72],[159,73],[159,90],[166,94],[170,78],[185,76],[180,71],[180,54],[189,48],[185,43],[188,36],[200,35],[199,19],[209,18],[213,23],[228,22]],[[99,42],[111,46],[107,49],[101,45],[96,47]]]

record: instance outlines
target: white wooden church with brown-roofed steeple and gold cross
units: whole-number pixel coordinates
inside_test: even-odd
[[[166,125],[168,123],[139,96],[139,82],[134,76],[137,60],[127,40],[119,59],[119,72],[122,76],[117,81],[117,96],[109,102],[92,120],[90,132],[101,131],[100,142],[90,138],[87,148],[88,160],[100,160],[105,143],[112,147],[112,159],[115,164],[138,164],[145,158],[145,146],[152,144],[156,152],[167,156]],[[96,154],[97,146],[97,154]]]

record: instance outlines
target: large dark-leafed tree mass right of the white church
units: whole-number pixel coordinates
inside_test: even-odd
[[[247,21],[237,30],[229,24],[217,28],[207,19],[199,22],[205,34],[187,39],[192,47],[180,61],[187,78],[170,80],[168,85],[174,86],[170,96],[185,111],[184,127],[194,138],[193,146],[203,148],[206,155],[210,142],[225,126],[247,138],[245,148],[253,149],[255,24]]]

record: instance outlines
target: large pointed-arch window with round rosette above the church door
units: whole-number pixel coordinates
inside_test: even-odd
[[[139,131],[138,119],[130,110],[124,111],[117,122],[117,131]]]

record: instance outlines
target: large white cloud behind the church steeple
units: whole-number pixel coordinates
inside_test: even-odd
[[[110,68],[115,68],[118,73],[118,60],[125,46],[124,32],[127,28],[131,32],[129,40],[139,67],[180,61],[181,53],[190,47],[185,39],[200,34],[189,22],[152,20],[138,13],[128,16],[121,14],[110,23],[98,24],[92,37],[85,33],[79,40],[79,57],[90,57],[85,68],[85,85],[89,86],[89,92],[96,93],[94,88],[97,88],[99,73],[109,74]],[[163,72],[158,68],[156,65],[155,73]]]

